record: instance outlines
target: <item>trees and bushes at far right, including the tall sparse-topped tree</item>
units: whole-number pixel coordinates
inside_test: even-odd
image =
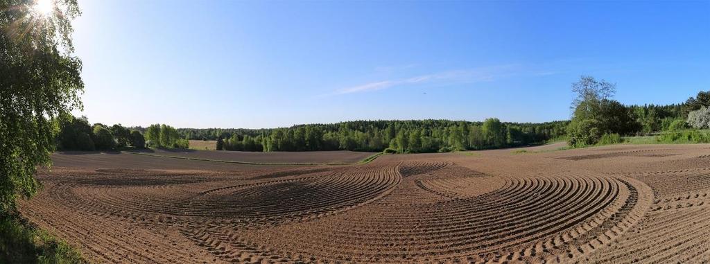
[[[584,147],[619,143],[622,136],[682,131],[690,126],[709,128],[710,91],[699,92],[683,104],[626,106],[612,99],[616,84],[582,76],[572,84],[572,121],[567,127],[569,145]],[[708,116],[707,118],[704,116]]]

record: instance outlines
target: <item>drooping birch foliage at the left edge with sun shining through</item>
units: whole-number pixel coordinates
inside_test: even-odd
[[[33,4],[0,4],[0,213],[15,207],[16,194],[37,192],[36,168],[49,166],[55,149],[52,120],[82,107],[82,63],[70,38],[76,1],[53,1],[51,16],[33,13]]]

